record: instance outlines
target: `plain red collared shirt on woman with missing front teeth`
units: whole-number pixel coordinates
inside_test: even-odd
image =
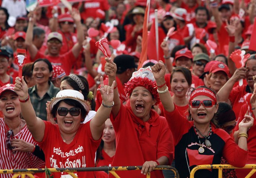
[[[154,161],[162,156],[166,156],[171,164],[173,142],[167,121],[152,109],[150,116],[147,122],[143,122],[134,115],[131,106],[122,104],[115,118],[111,114],[110,119],[116,134],[116,153],[112,166],[143,165],[145,161]],[[119,171],[117,174],[122,178],[146,177],[140,170]],[[162,171],[158,170],[152,171],[151,177],[164,178]]]

